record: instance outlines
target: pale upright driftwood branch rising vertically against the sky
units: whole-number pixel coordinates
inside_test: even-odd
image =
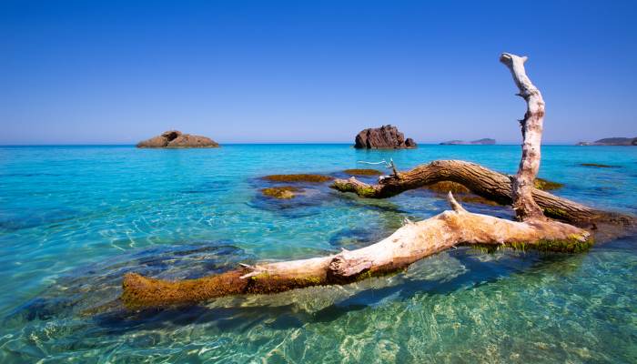
[[[522,129],[522,157],[518,173],[513,178],[513,210],[518,219],[543,218],[541,208],[535,203],[532,195],[533,182],[540,170],[541,132],[544,122],[544,100],[540,90],[526,76],[524,62],[526,56],[515,56],[503,53],[500,62],[511,70],[515,85],[520,89],[518,94],[527,104],[524,118],[520,120]]]

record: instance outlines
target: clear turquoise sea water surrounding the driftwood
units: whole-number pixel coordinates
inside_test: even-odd
[[[402,169],[460,158],[512,173],[519,156],[517,146],[0,147],[0,362],[637,361],[635,237],[576,255],[459,248],[389,278],[194,308],[112,303],[128,271],[193,278],[329,254],[446,208],[425,190],[369,201],[325,185],[272,201],[258,177],[342,177],[389,157]],[[543,147],[540,175],[563,182],[561,196],[637,213],[635,147]]]

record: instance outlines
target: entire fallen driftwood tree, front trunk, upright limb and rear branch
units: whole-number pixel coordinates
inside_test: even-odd
[[[343,250],[339,254],[320,258],[242,265],[227,273],[205,278],[167,281],[127,274],[123,282],[122,300],[128,308],[147,308],[167,305],[192,304],[227,295],[250,293],[276,293],[293,288],[317,285],[346,284],[363,278],[380,276],[407,268],[411,263],[458,245],[506,245],[513,248],[539,248],[577,252],[589,248],[589,231],[545,217],[542,204],[551,196],[533,189],[532,182],[540,166],[541,126],[544,102],[540,92],[526,76],[526,57],[503,54],[501,62],[508,66],[520,95],[527,101],[528,110],[521,120],[522,157],[518,174],[509,177],[486,168],[460,161],[436,162],[429,169],[441,167],[433,175],[448,177],[475,189],[484,187],[485,194],[511,198],[518,221],[474,214],[466,211],[449,193],[451,210],[435,217],[411,223],[396,230],[389,238],[356,250]],[[461,168],[457,167],[462,166]],[[447,169],[444,169],[445,166]],[[427,173],[427,167],[419,167]],[[419,185],[422,173],[394,173],[397,181],[383,179],[383,184],[363,186],[349,180],[342,190],[351,190],[365,197],[389,197],[401,190]],[[458,171],[464,173],[458,173]],[[455,171],[455,172],[454,172]],[[473,175],[476,171],[480,172]],[[412,173],[412,174],[410,174]],[[462,177],[465,176],[465,177]],[[469,177],[466,177],[469,176]],[[412,177],[404,179],[405,177]],[[457,178],[457,179],[454,179]],[[486,179],[487,183],[479,182]],[[493,182],[489,180],[493,179]],[[400,181],[403,182],[400,182]],[[411,182],[405,182],[411,181]],[[491,190],[489,186],[492,186]],[[472,188],[472,189],[474,189]],[[474,190],[475,190],[474,189]],[[540,198],[538,198],[540,196]],[[563,203],[562,203],[563,204]],[[571,203],[572,210],[578,208]],[[585,207],[584,207],[585,208]],[[543,208],[546,212],[546,207]]]

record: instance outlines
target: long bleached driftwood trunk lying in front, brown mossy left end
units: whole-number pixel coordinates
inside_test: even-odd
[[[127,274],[122,300],[128,308],[193,304],[228,295],[277,293],[293,288],[347,284],[407,268],[461,244],[511,245],[543,250],[580,251],[589,234],[555,221],[510,221],[466,211],[450,195],[451,210],[408,223],[389,238],[336,255],[242,266],[206,278],[167,281]]]

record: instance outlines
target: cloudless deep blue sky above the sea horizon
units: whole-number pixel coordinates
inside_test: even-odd
[[[132,4],[135,3],[135,4]],[[529,56],[544,140],[637,136],[635,1],[0,2],[0,144],[517,142],[501,52]]]

